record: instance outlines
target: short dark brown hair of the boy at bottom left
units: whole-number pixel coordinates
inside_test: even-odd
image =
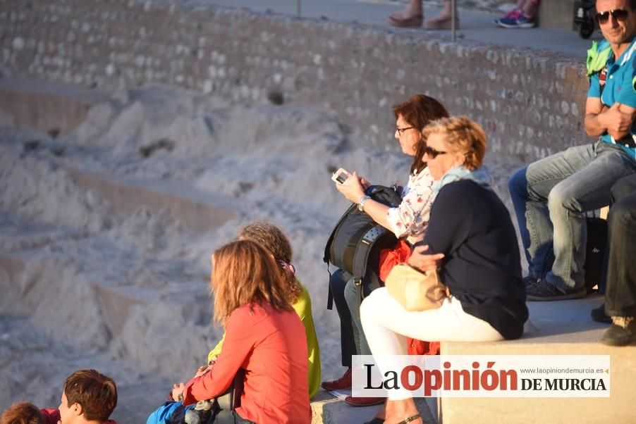
[[[117,406],[117,386],[112,378],[96,370],[78,370],[66,378],[64,394],[68,407],[82,406],[87,421],[106,421]]]

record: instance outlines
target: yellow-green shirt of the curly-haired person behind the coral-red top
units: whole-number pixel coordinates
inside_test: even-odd
[[[298,282],[300,284],[300,282]],[[294,311],[298,314],[298,317],[302,321],[302,325],[305,325],[305,335],[307,335],[307,382],[309,383],[309,396],[310,398],[320,389],[320,348],[318,346],[318,337],[316,335],[316,329],[314,328],[314,317],[312,316],[312,299],[307,292],[307,288],[300,284],[300,296],[298,300],[292,305]],[[212,361],[221,354],[221,348],[225,340],[225,333],[216,347],[207,354],[207,360]]]

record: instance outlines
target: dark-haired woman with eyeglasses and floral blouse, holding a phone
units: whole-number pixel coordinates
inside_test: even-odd
[[[415,94],[407,101],[393,106],[396,117],[395,137],[400,142],[402,152],[413,157],[410,167],[408,185],[402,190],[402,202],[396,208],[390,208],[365,196],[365,187],[369,185],[357,173],[349,177],[336,188],[347,199],[362,204],[365,211],[379,225],[393,232],[402,244],[413,243],[426,230],[431,207],[433,179],[422,161],[426,145],[422,141],[422,129],[431,121],[448,116],[446,108],[424,94]],[[406,250],[410,251],[410,244]],[[379,264],[370,264],[378,267]],[[334,381],[323,382],[327,390],[346,389],[351,387],[351,356],[355,354],[369,355],[369,347],[362,332],[360,323],[360,289],[367,295],[368,287],[358,287],[353,283],[353,275],[338,270],[331,276],[329,284],[334,295],[334,303],[341,320],[341,344],[343,366],[347,367],[345,375]],[[348,397],[345,399],[353,406],[369,406],[379,404],[384,399]]]

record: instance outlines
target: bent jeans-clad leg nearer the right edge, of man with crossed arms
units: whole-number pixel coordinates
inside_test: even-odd
[[[561,291],[584,286],[587,231],[583,212],[610,203],[611,187],[621,177],[636,172],[636,162],[620,147],[595,144],[595,157],[587,166],[561,181],[548,198],[550,220],[554,226],[554,264],[546,282]]]

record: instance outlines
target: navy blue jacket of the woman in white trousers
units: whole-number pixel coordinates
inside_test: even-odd
[[[528,318],[515,227],[501,199],[471,180],[441,188],[424,241],[445,255],[441,280],[466,313],[505,339],[523,333]]]

